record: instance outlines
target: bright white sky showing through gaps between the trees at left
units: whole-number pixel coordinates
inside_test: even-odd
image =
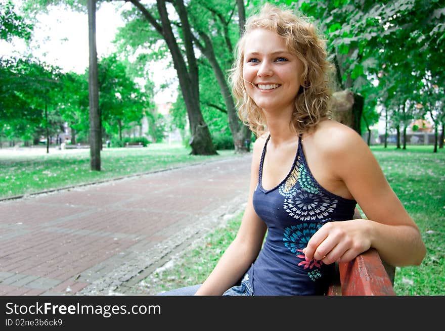
[[[99,57],[110,55],[115,50],[112,41],[117,28],[124,25],[120,18],[120,11],[130,6],[132,6],[130,3],[101,4],[96,13],[96,43]],[[24,41],[17,38],[14,38],[11,43],[0,40],[0,56],[31,53],[40,60],[56,65],[66,72],[83,73],[88,67],[87,14],[54,7],[49,14],[37,15],[37,20],[30,50],[27,50]],[[165,63],[156,63],[150,68],[152,69],[150,79],[155,83],[156,89],[166,80],[177,81],[176,72],[173,68],[166,69]],[[157,92],[155,102],[174,102],[176,86]]]

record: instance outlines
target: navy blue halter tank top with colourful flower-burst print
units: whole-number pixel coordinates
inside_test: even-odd
[[[247,273],[255,296],[324,295],[334,264],[306,261],[302,249],[326,222],[350,220],[355,200],[337,196],[323,188],[311,174],[298,139],[292,167],[276,187],[261,184],[266,139],[261,155],[253,207],[268,226],[267,237]]]

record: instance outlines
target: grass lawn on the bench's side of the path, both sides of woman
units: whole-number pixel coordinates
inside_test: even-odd
[[[427,254],[420,266],[396,267],[397,295],[445,295],[445,151],[431,146],[371,147],[394,192],[420,228]],[[154,295],[202,283],[235,238],[242,213],[208,233],[168,268],[160,268],[139,286]]]

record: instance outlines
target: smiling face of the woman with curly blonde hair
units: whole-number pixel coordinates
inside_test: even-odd
[[[294,110],[303,65],[286,47],[283,37],[264,29],[248,32],[244,44],[243,78],[246,91],[265,112]]]

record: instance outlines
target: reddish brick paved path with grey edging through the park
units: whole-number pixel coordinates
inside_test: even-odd
[[[137,294],[169,254],[243,209],[250,161],[1,202],[0,295]]]

